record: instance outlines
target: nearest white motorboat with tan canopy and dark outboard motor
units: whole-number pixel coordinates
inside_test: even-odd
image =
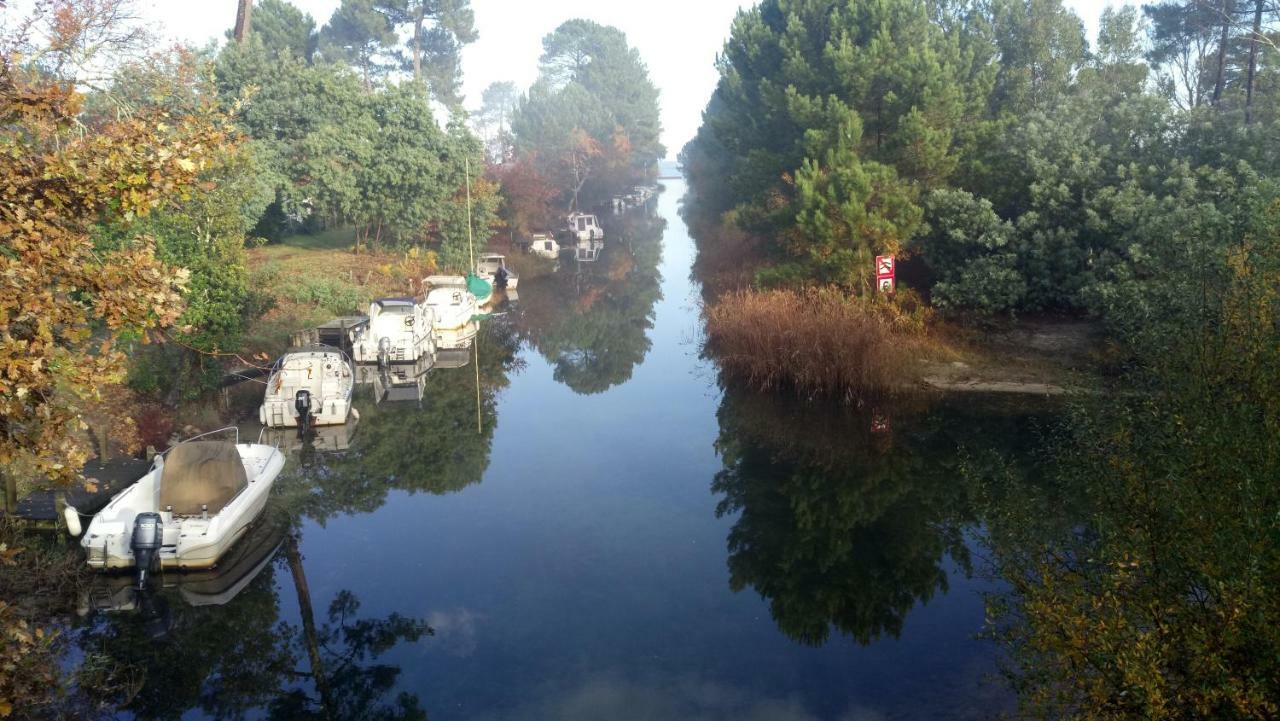
[[[93,569],[210,569],[262,512],[284,453],[197,437],[156,456],[137,483],[90,521],[81,546]],[[68,520],[76,514],[68,508]],[[78,524],[77,524],[78,525]],[[76,530],[76,526],[72,526]]]

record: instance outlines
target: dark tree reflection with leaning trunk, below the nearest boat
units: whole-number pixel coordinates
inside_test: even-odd
[[[275,563],[259,566],[225,604],[192,606],[166,588],[147,592],[133,612],[91,617],[78,631],[84,658],[70,715],[120,708],[180,718],[200,709],[243,718],[266,709],[270,718],[425,718],[416,697],[390,697],[399,668],[378,660],[430,628],[398,613],[362,619],[349,590],[338,592],[326,621],[316,624],[298,539],[288,530]],[[270,542],[264,534],[246,540]],[[289,570],[301,628],[280,619],[278,565]]]

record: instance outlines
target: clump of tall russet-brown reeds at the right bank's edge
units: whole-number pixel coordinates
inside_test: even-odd
[[[754,388],[852,400],[914,379],[923,328],[918,314],[833,288],[731,291],[707,309],[707,350]]]

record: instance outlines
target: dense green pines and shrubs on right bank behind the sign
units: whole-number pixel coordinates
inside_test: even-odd
[[[904,248],[945,309],[1112,312],[1171,234],[1242,216],[1280,170],[1275,10],[1146,17],[1105,12],[1091,54],[1060,0],[765,1],[733,23],[685,172],[762,238],[764,284],[863,287]]]

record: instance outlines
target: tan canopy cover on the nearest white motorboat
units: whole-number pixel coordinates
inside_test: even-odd
[[[164,458],[160,507],[179,516],[218,514],[248,485],[244,462],[234,443],[192,441],[174,446]]]

